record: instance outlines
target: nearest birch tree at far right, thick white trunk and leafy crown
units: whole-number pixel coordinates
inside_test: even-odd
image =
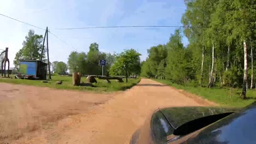
[[[251,39],[255,37],[256,13],[254,7],[255,1],[220,0],[217,5],[216,13],[213,14],[213,17],[216,17],[217,21],[216,29],[222,30],[218,31],[218,34],[224,32],[223,35],[226,37],[228,46],[232,43],[236,43],[235,51],[241,50],[240,45],[243,47],[243,90],[241,93],[241,98],[243,99],[246,98],[247,89],[247,46]]]

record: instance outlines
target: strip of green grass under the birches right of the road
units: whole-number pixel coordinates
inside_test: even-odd
[[[206,87],[192,87],[192,86],[183,86],[172,83],[168,80],[153,79],[155,81],[165,83],[166,85],[175,87],[177,89],[184,89],[187,92],[199,95],[205,99],[211,100],[215,103],[220,104],[221,106],[232,106],[232,107],[244,107],[256,100],[256,89],[248,89],[247,99],[242,100],[240,94],[242,89],[233,88],[232,92],[230,88],[206,88]]]

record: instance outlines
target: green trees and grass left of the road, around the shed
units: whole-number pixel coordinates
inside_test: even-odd
[[[41,51],[43,48],[43,35],[35,34],[33,30],[30,30],[25,37],[22,48],[16,53],[13,61],[15,74],[22,74],[20,71],[19,59],[26,60],[40,60]],[[0,79],[0,82],[17,83],[24,85],[42,86],[59,89],[74,89],[80,91],[124,91],[127,88],[135,86],[140,81],[140,78],[128,78],[137,77],[141,73],[140,53],[134,49],[127,49],[120,53],[106,53],[101,52],[97,43],[92,43],[89,46],[88,52],[72,51],[68,56],[67,63],[61,61],[54,61],[48,63],[48,57],[46,57],[46,51],[42,52],[42,61],[50,65],[50,71],[55,75],[51,76],[51,80],[22,80],[22,79]],[[100,60],[104,59],[106,65],[100,65]],[[103,68],[103,71],[102,71]],[[69,71],[69,72],[68,72]],[[49,74],[49,68],[47,67],[47,73]],[[83,75],[104,75],[109,78],[113,76],[125,76],[125,82],[117,82],[116,80],[100,80],[96,78],[97,83],[86,83],[86,77],[82,77],[82,86],[74,86],[72,82],[72,73],[80,73]],[[103,73],[103,74],[102,74]],[[60,75],[69,76],[60,76]],[[14,76],[12,76],[14,77]],[[50,77],[47,77],[50,79]],[[106,78],[106,79],[107,79]],[[62,81],[59,85],[57,81]],[[124,80],[123,80],[124,81]],[[81,83],[80,83],[81,84]],[[79,85],[80,85],[79,84]]]

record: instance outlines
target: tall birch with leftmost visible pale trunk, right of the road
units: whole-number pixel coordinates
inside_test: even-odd
[[[215,3],[218,0],[185,0],[187,9],[182,16],[182,23],[185,26],[184,34],[189,39],[190,45],[194,47],[193,53],[197,54],[194,62],[197,62],[197,67],[200,65],[201,69],[197,69],[197,77],[200,77],[200,86],[202,87],[204,72],[205,72],[205,58],[206,58],[206,37],[205,31],[210,26],[211,14],[215,10]],[[201,47],[201,50],[198,49]],[[201,64],[199,61],[200,54],[196,51],[201,51]],[[194,63],[195,64],[195,63]],[[212,65],[213,66],[213,65]]]

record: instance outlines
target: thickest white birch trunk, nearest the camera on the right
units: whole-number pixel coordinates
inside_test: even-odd
[[[241,98],[245,99],[246,98],[246,85],[247,85],[247,45],[246,45],[246,40],[243,40],[243,53],[244,53],[244,71],[243,71],[243,89],[241,93]]]

